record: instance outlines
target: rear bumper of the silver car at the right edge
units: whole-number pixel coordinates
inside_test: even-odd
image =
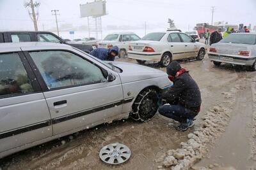
[[[230,56],[230,55],[218,55],[213,53],[208,53],[208,57],[212,61],[216,62],[225,62],[230,64],[237,64],[243,66],[252,66],[256,60],[256,57],[237,57],[237,56]]]

